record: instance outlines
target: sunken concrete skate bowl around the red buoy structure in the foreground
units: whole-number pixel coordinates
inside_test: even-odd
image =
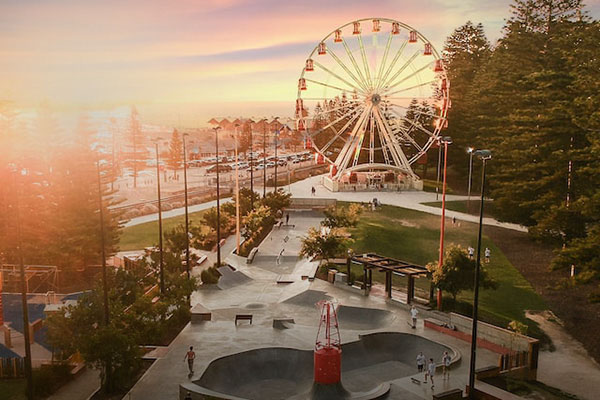
[[[344,389],[356,395],[389,389],[387,382],[417,372],[419,351],[436,360],[444,351],[458,357],[449,347],[408,333],[373,333],[342,345]],[[269,347],[213,360],[199,380],[182,384],[180,393],[182,398],[190,391],[219,399],[306,399],[312,389],[312,350]],[[347,394],[327,398],[353,398]]]

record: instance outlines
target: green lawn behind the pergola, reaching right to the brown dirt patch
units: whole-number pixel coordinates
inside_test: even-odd
[[[350,230],[355,240],[351,247],[358,254],[372,252],[426,265],[438,258],[439,223],[439,217],[434,215],[382,206],[375,212],[365,211],[358,226]],[[445,245],[451,243],[465,248],[469,245],[476,247],[477,225],[467,222],[462,222],[460,227],[446,224]],[[492,252],[491,262],[485,268],[498,281],[499,287],[497,290],[480,291],[482,318],[503,325],[519,320],[533,328],[533,322],[525,318],[525,310],[547,309],[546,304],[487,236],[483,237],[482,251],[485,247]],[[382,277],[374,275],[373,278],[382,281]],[[426,280],[418,279],[417,286],[427,287]],[[457,300],[462,304],[457,307],[468,310],[472,297],[470,291],[461,293]]]

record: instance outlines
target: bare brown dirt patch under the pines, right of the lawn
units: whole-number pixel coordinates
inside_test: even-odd
[[[550,261],[554,256],[550,246],[534,242],[523,232],[489,226],[484,230],[563,321],[565,330],[599,361],[600,304],[588,301],[588,295],[596,289],[595,285],[557,289],[567,273],[550,271]]]

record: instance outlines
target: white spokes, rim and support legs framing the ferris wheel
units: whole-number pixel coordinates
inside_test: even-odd
[[[360,45],[360,57],[357,57],[357,58],[359,58],[358,61],[355,58],[353,52],[349,49],[345,38],[343,36],[341,36],[341,43],[344,46],[345,54],[347,55],[348,59],[351,61],[351,65],[347,65],[347,63],[342,62],[342,60],[335,54],[335,52],[333,52],[333,50],[331,50],[328,47],[325,47],[326,54],[328,54],[327,57],[333,58],[335,60],[336,64],[346,72],[346,74],[348,75],[347,77],[339,76],[335,72],[331,71],[330,69],[328,69],[327,67],[322,65],[321,62],[319,62],[318,57],[322,57],[322,55],[317,55],[319,53],[320,46],[323,46],[323,43],[327,43],[328,40],[333,38],[334,35],[336,35],[336,32],[339,35],[339,32],[341,32],[342,29],[344,29],[350,25],[354,25],[354,24],[358,23],[360,26],[363,22],[372,22],[374,24],[375,21],[379,21],[378,24],[380,24],[381,22],[390,24],[390,26],[392,26],[392,31],[389,32],[389,35],[387,38],[387,43],[386,43],[385,50],[383,53],[383,59],[379,65],[377,65],[375,68],[373,68],[373,70],[371,70],[369,68],[369,63],[367,62],[367,59],[366,59],[365,46],[364,46],[363,40],[362,40],[362,29],[359,30],[359,33],[357,35],[356,34],[352,35],[352,36],[358,37],[358,43]],[[415,58],[419,56],[419,52],[421,52],[421,56],[423,56],[423,50],[422,50],[423,48],[421,48],[420,50],[417,50],[411,57],[409,57],[408,60],[405,61],[401,67],[396,68],[396,63],[397,63],[398,59],[403,55],[404,50],[406,49],[407,45],[409,43],[415,43],[414,41],[409,42],[409,39],[406,39],[400,45],[400,48],[396,51],[396,54],[393,55],[392,61],[389,63],[389,65],[386,66],[387,59],[389,56],[388,53],[390,50],[390,44],[392,43],[394,36],[396,36],[395,34],[393,34],[394,25],[397,28],[404,29],[405,31],[409,32],[409,35],[416,35],[415,38],[417,39],[417,41],[416,41],[417,43],[420,42],[421,44],[429,45],[429,50],[430,50],[431,54],[428,54],[428,55],[431,55],[433,57],[432,62],[425,64],[423,67],[419,68],[416,71],[413,69],[413,71],[408,76],[403,77],[402,72],[404,72],[405,70],[408,69],[408,67],[413,63]],[[446,74],[446,69],[443,66],[443,63],[441,62],[441,57],[440,57],[439,53],[437,52],[437,50],[435,49],[435,47],[433,46],[433,44],[419,31],[417,31],[413,27],[411,27],[407,24],[404,24],[400,21],[390,19],[390,18],[377,18],[377,17],[363,18],[363,19],[358,19],[355,21],[348,22],[348,23],[334,29],[333,31],[331,31],[321,41],[319,41],[317,43],[317,45],[314,47],[312,52],[309,54],[308,59],[312,60],[312,62],[314,63],[314,69],[318,68],[318,69],[322,70],[323,72],[331,75],[333,78],[335,78],[337,85],[341,85],[342,83],[344,83],[349,88],[348,87],[341,88],[339,86],[336,86],[335,83],[330,84],[330,83],[326,83],[326,82],[320,82],[315,79],[311,79],[310,72],[308,72],[306,70],[306,66],[305,66],[302,69],[302,72],[300,74],[298,94],[297,94],[297,99],[301,99],[301,104],[303,104],[304,100],[306,100],[306,101],[309,101],[309,100],[327,101],[327,100],[333,100],[333,99],[335,99],[335,97],[339,97],[339,96],[322,97],[322,98],[309,98],[309,97],[303,98],[302,97],[303,90],[301,90],[301,88],[300,88],[300,81],[303,81],[306,85],[317,84],[317,85],[322,85],[324,87],[329,87],[331,89],[339,90],[340,95],[342,93],[352,94],[353,92],[351,90],[354,89],[355,94],[364,96],[364,98],[360,99],[360,100],[355,100],[355,99],[348,100],[349,103],[354,103],[354,107],[350,107],[349,112],[346,112],[341,117],[337,118],[336,120],[334,120],[331,123],[328,123],[327,125],[318,129],[315,132],[310,132],[310,130],[308,128],[308,125],[309,125],[308,122],[311,121],[311,118],[304,115],[304,109],[302,109],[300,111],[299,115],[297,112],[297,115],[296,115],[297,126],[305,127],[307,136],[311,138],[313,148],[327,162],[329,162],[331,165],[334,165],[336,167],[337,171],[335,172],[333,178],[339,179],[339,177],[341,177],[343,173],[349,173],[349,172],[355,172],[355,171],[388,170],[388,171],[402,172],[414,179],[419,179],[418,176],[413,172],[411,165],[413,163],[415,163],[419,158],[421,158],[425,153],[427,153],[427,151],[433,144],[439,142],[439,140],[441,138],[441,130],[447,126],[447,113],[448,113],[448,109],[450,107],[450,97],[449,97],[450,82],[449,82],[447,74]],[[359,63],[361,61],[362,61],[362,69],[359,67]],[[425,83],[420,83],[418,85],[413,85],[412,87],[408,87],[408,88],[399,88],[398,87],[403,82],[406,82],[410,78],[421,73],[426,67],[432,66],[432,65],[436,65],[436,66],[439,65],[441,67],[441,71],[436,70],[435,79],[433,79],[431,81],[427,81]],[[308,74],[307,74],[307,72],[308,72]],[[401,79],[397,80],[398,78],[401,78]],[[396,102],[394,100],[406,100],[406,99],[415,99],[415,98],[419,99],[418,97],[415,97],[415,96],[403,98],[403,97],[401,97],[402,92],[405,92],[405,91],[408,91],[411,89],[415,89],[418,86],[432,85],[436,82],[441,84],[442,81],[445,82],[445,85],[444,85],[444,87],[441,87],[441,85],[438,85],[438,88],[440,88],[439,89],[440,96],[437,99],[438,106],[436,108],[434,108],[435,111],[432,114],[423,113],[424,115],[428,115],[428,116],[434,118],[435,123],[433,124],[433,128],[423,126],[418,121],[417,121],[417,123],[415,123],[415,121],[405,118],[402,114],[400,114],[398,112],[398,110],[397,110],[398,108],[407,109],[407,107],[396,104]],[[376,103],[376,100],[374,100],[374,97],[373,97],[374,94],[379,94],[381,101],[382,102],[385,101],[385,104],[388,107],[387,109],[391,113],[394,114],[394,120],[390,120],[385,117],[384,113],[382,112],[382,110],[379,107],[379,104],[381,104],[381,103],[379,103],[379,102]],[[400,97],[398,97],[398,96],[400,96]],[[421,99],[423,99],[423,98],[421,98]],[[426,100],[433,100],[433,97],[427,97]],[[297,102],[297,104],[298,104],[298,102]],[[339,108],[341,108],[341,107],[338,107],[338,109]],[[328,110],[326,113],[330,113],[332,111],[336,111],[336,109]],[[421,114],[421,112],[419,111],[418,114]],[[334,129],[333,125],[337,122],[342,121],[344,118],[349,118],[348,121],[344,124],[344,126],[339,130]],[[364,147],[362,147],[362,145],[363,145],[362,140],[365,137],[367,121],[369,121],[369,120],[371,120],[371,123],[369,124],[370,130],[371,130],[370,135],[369,135],[371,139],[369,141],[369,148],[368,148],[369,162],[358,163],[357,162],[358,161],[357,154],[359,154],[360,151],[362,151],[362,149],[364,149]],[[395,127],[397,128],[396,132],[398,132],[406,142],[412,144],[412,146],[415,148],[413,150],[414,153],[410,157],[406,156],[405,152],[402,150],[401,143],[399,143],[396,135],[393,134],[392,127],[390,126],[392,121],[396,122],[396,125],[395,125]],[[428,140],[426,141],[426,143],[423,145],[418,144],[412,138],[411,132],[407,131],[405,127],[402,127],[400,124],[398,124],[398,121],[408,122],[408,124],[411,125],[411,129],[410,129],[411,131],[414,129],[414,130],[418,130],[422,133],[425,133],[429,137]],[[352,125],[352,124],[354,124],[354,125]],[[380,144],[380,147],[377,147],[377,148],[375,147],[374,139],[373,139],[374,126],[377,127],[377,134],[379,137],[379,144]],[[339,139],[341,137],[341,135],[343,135],[344,133],[347,133],[350,128],[352,128],[350,135],[349,135],[348,139],[346,140],[341,152],[337,155],[337,157],[334,160],[330,159],[326,154],[327,150],[337,139]],[[319,133],[322,133],[327,129],[333,129],[333,131],[335,132],[334,136],[331,140],[329,140],[327,142],[326,145],[321,146],[319,148],[315,144],[315,141],[313,140],[313,138],[316,137]],[[301,129],[299,128],[299,130],[301,130]],[[358,147],[358,151],[357,151],[357,147]],[[385,157],[385,160],[383,163],[375,162],[375,160],[374,160],[375,150],[380,150],[383,153],[383,155]],[[353,155],[354,155],[355,160],[352,160]]]

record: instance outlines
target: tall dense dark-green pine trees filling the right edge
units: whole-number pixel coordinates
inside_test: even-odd
[[[494,45],[472,22],[447,38],[448,162],[466,182],[465,149],[492,150],[497,217],[552,243],[554,269],[598,280],[600,23],[580,0],[515,0],[510,10]]]

